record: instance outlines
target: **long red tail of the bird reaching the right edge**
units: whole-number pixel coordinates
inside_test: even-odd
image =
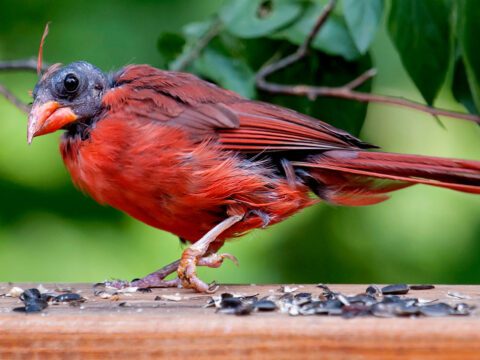
[[[332,150],[292,165],[319,197],[339,205],[376,204],[414,184],[480,194],[480,161]]]

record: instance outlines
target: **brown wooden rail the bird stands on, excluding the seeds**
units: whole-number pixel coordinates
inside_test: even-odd
[[[24,289],[38,284],[15,284]],[[53,289],[52,284],[43,284]],[[91,284],[61,284],[88,298],[82,308],[51,305],[41,314],[13,312],[0,298],[0,359],[480,359],[480,317],[343,319],[255,313],[234,316],[204,308],[208,295],[182,289],[93,296]],[[12,284],[0,284],[0,293]],[[364,285],[332,285],[347,294]],[[267,295],[279,285],[222,286],[219,292]],[[313,285],[299,291],[319,293]],[[460,292],[469,300],[447,297]],[[155,301],[178,293],[180,301]],[[412,296],[478,304],[480,286],[437,286]],[[127,307],[119,306],[126,302]]]

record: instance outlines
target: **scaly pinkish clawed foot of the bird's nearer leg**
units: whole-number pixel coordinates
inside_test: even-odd
[[[231,254],[210,254],[202,257],[195,249],[186,249],[180,260],[177,269],[177,275],[184,288],[193,289],[197,292],[214,293],[218,286],[215,283],[207,284],[197,276],[197,266],[208,266],[218,268],[222,265],[224,259],[232,260],[238,265],[238,260]]]

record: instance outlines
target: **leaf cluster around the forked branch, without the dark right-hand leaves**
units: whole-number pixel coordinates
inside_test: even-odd
[[[158,42],[160,54],[171,70],[179,69],[187,61],[186,70],[245,97],[288,106],[358,134],[366,104],[327,98],[310,101],[256,90],[255,74],[260,67],[294,52],[307,38],[325,4],[326,1],[228,1],[218,17],[188,24],[177,34],[162,34]],[[312,43],[312,56],[272,75],[272,81],[342,86],[368,70],[368,47],[381,17],[382,1],[371,1],[368,7],[351,2],[345,5],[349,6],[346,12],[350,25],[341,11],[331,14]],[[362,22],[364,11],[369,11],[373,25]],[[352,27],[356,23],[362,27],[361,33]],[[202,48],[202,41],[217,27],[219,34]],[[361,90],[369,91],[370,82]],[[336,111],[339,107],[343,109],[340,113]]]

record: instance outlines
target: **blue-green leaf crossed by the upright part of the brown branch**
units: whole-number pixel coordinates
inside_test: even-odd
[[[298,21],[273,37],[287,39],[296,45],[303,44],[323,8],[324,6],[321,4],[312,4]],[[340,55],[347,60],[354,60],[360,56],[345,20],[335,13],[330,14],[330,17],[313,40],[312,47],[330,55]]]

